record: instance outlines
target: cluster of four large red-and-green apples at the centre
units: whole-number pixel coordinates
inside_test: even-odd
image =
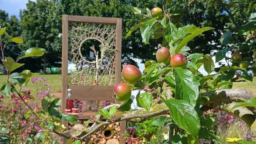
[[[162,47],[157,50],[156,60],[158,63],[165,63],[172,67],[185,68],[187,66],[187,58],[183,54],[175,54],[171,57],[170,51],[166,47]],[[149,62],[150,64],[147,64],[147,66],[156,63],[154,60]],[[145,67],[147,66],[145,65]],[[133,65],[124,65],[122,75],[124,80],[131,85],[139,82],[142,77],[140,70]],[[116,100],[126,101],[131,97],[131,89],[126,83],[118,83],[114,86],[114,95]]]

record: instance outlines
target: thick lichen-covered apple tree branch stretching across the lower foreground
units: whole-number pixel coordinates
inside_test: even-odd
[[[210,98],[211,104],[207,104],[203,106],[201,109],[204,111],[207,111],[209,109],[216,109],[220,111],[226,111],[229,112],[242,120],[245,121],[245,123],[248,126],[252,126],[252,124],[255,122],[255,115],[254,113],[249,110],[247,107],[238,107],[232,111],[232,107],[236,104],[233,102],[237,101],[246,101],[248,99],[254,98],[254,95],[251,92],[248,92],[243,89],[221,89],[221,90],[215,90],[211,92],[204,92],[200,93],[200,96],[208,96]],[[110,107],[113,105],[120,106],[120,104],[112,104],[107,107],[104,107],[105,110],[109,110]],[[115,122],[120,122],[120,121],[133,121],[133,122],[141,122],[144,119],[148,119],[151,117],[156,117],[160,115],[170,115],[170,111],[168,107],[165,105],[165,103],[159,103],[156,105],[151,106],[150,111],[147,112],[145,109],[141,110],[136,110],[136,111],[130,111],[128,114],[125,114],[123,117],[118,118],[116,121],[111,121],[108,120],[106,122],[101,122],[102,116],[101,115],[96,115],[95,116],[95,123],[90,128],[87,128],[86,131],[87,133],[73,137],[75,140],[83,140],[93,134],[94,132],[98,131],[100,128],[115,123]],[[256,125],[256,122],[255,122]],[[256,127],[256,126],[255,126]],[[252,132],[256,133],[256,129],[252,128]]]

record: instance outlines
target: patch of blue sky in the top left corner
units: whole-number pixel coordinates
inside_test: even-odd
[[[0,0],[0,9],[5,10],[7,13],[9,13],[9,16],[16,15],[18,17],[19,10],[26,8],[27,1],[28,0]]]

